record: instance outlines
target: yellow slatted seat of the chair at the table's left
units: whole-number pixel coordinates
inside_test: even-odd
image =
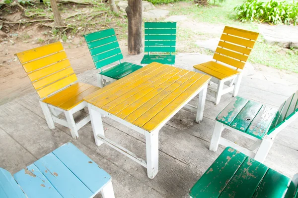
[[[75,83],[57,94],[44,99],[43,102],[64,110],[70,110],[81,103],[84,97],[99,89],[99,87],[94,87],[85,83]]]

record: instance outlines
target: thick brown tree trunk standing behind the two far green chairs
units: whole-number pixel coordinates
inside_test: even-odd
[[[128,18],[128,53],[140,54],[143,51],[142,44],[142,0],[128,0],[126,7]]]

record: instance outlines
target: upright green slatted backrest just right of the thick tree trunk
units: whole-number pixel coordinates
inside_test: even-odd
[[[145,22],[146,52],[175,52],[176,22]]]

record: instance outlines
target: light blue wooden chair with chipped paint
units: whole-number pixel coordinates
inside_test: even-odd
[[[114,198],[111,176],[67,143],[25,169],[0,168],[0,198]]]

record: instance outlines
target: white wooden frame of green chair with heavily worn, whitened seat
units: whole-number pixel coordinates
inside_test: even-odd
[[[239,150],[240,152],[243,152],[247,156],[250,156],[250,157],[254,158],[255,160],[263,163],[266,156],[268,155],[268,153],[270,151],[270,148],[273,145],[276,135],[279,132],[281,132],[283,129],[285,129],[291,122],[293,122],[297,118],[298,118],[298,112],[295,113],[293,116],[291,116],[289,119],[285,120],[280,126],[278,126],[269,135],[266,134],[262,140],[255,138],[253,136],[250,136],[244,132],[238,131],[234,128],[231,128],[219,121],[215,121],[215,127],[214,127],[214,131],[213,131],[209,149],[216,152],[219,145],[223,145],[224,147],[232,147],[232,148]],[[235,132],[239,135],[249,138],[249,139],[255,141],[255,143],[250,148],[243,148],[243,147],[221,137],[224,129],[228,129],[232,132]]]

